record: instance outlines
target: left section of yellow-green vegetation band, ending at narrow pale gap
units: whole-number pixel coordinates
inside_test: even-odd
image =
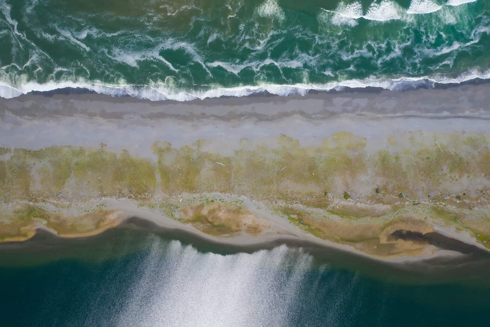
[[[76,188],[99,196],[141,195],[155,190],[156,174],[149,160],[126,151],[70,146],[15,149],[8,160],[0,161],[0,187],[17,199],[33,192],[53,197]]]

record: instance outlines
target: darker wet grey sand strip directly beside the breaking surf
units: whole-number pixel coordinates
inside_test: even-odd
[[[254,117],[273,120],[299,114],[322,119],[342,113],[383,116],[468,117],[490,119],[489,83],[446,85],[433,89],[390,91],[378,88],[344,91],[311,91],[305,96],[251,95],[221,97],[188,102],[149,101],[132,97],[112,97],[84,89],[35,92],[12,99],[0,99],[0,114],[85,115],[92,118],[122,119],[139,116],[148,119],[199,119],[215,117],[234,120]]]

